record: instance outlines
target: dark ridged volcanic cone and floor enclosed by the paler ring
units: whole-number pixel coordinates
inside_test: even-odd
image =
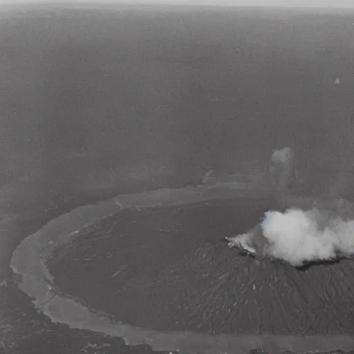
[[[227,247],[272,207],[237,198],[124,209],[47,264],[56,285],[119,322],[218,335],[353,335],[354,263],[297,270]]]

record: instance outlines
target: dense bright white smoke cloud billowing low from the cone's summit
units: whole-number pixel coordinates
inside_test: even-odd
[[[354,220],[348,209],[287,209],[265,212],[261,227],[227,237],[230,247],[295,267],[354,255]]]

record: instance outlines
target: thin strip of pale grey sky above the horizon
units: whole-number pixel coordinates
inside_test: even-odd
[[[61,0],[0,0],[1,4],[16,3],[60,3]],[[68,1],[64,1],[68,3]],[[261,6],[290,8],[354,8],[354,0],[71,0],[71,3],[174,3],[201,6]]]

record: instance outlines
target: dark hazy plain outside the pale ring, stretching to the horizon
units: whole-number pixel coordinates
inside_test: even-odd
[[[351,195],[353,23],[237,9],[3,12],[1,280],[21,239],[55,216],[266,162],[275,148],[296,151],[316,193]],[[151,349],[51,324],[14,283],[0,298],[0,353]]]

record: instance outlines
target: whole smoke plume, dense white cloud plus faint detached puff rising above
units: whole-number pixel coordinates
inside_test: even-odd
[[[289,147],[272,154],[270,173],[283,195],[290,180],[297,180],[294,156]],[[354,256],[354,205],[344,199],[291,196],[286,203],[291,207],[285,212],[265,212],[263,221],[247,233],[226,237],[229,247],[296,267]]]

